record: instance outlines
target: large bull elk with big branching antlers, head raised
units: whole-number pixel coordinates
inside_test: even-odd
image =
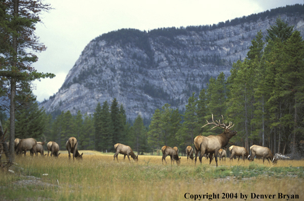
[[[222,116],[222,119],[224,121],[224,117]],[[234,137],[235,135],[237,135],[237,131],[233,131],[230,130],[230,128],[232,128],[234,126],[234,124],[232,125],[232,122],[229,123],[229,125],[227,126],[225,123],[220,123],[220,120],[216,121],[217,123],[214,122],[213,120],[213,114],[212,114],[212,122],[208,122],[206,125],[210,125],[213,124],[215,125],[214,127],[212,127],[210,130],[212,130],[215,127],[220,127],[224,129],[224,132],[221,133],[218,136],[197,136],[194,139],[194,146],[195,146],[195,164],[197,161],[197,157],[199,154],[199,151],[201,152],[201,155],[199,157],[200,159],[200,163],[202,163],[202,158],[204,156],[205,153],[210,153],[210,162],[209,164],[211,164],[212,161],[212,155],[214,154],[215,157],[215,163],[216,166],[217,165],[217,155],[218,155],[218,151],[221,147],[225,147],[228,143],[229,140]],[[203,127],[205,127],[206,125],[204,125]]]

